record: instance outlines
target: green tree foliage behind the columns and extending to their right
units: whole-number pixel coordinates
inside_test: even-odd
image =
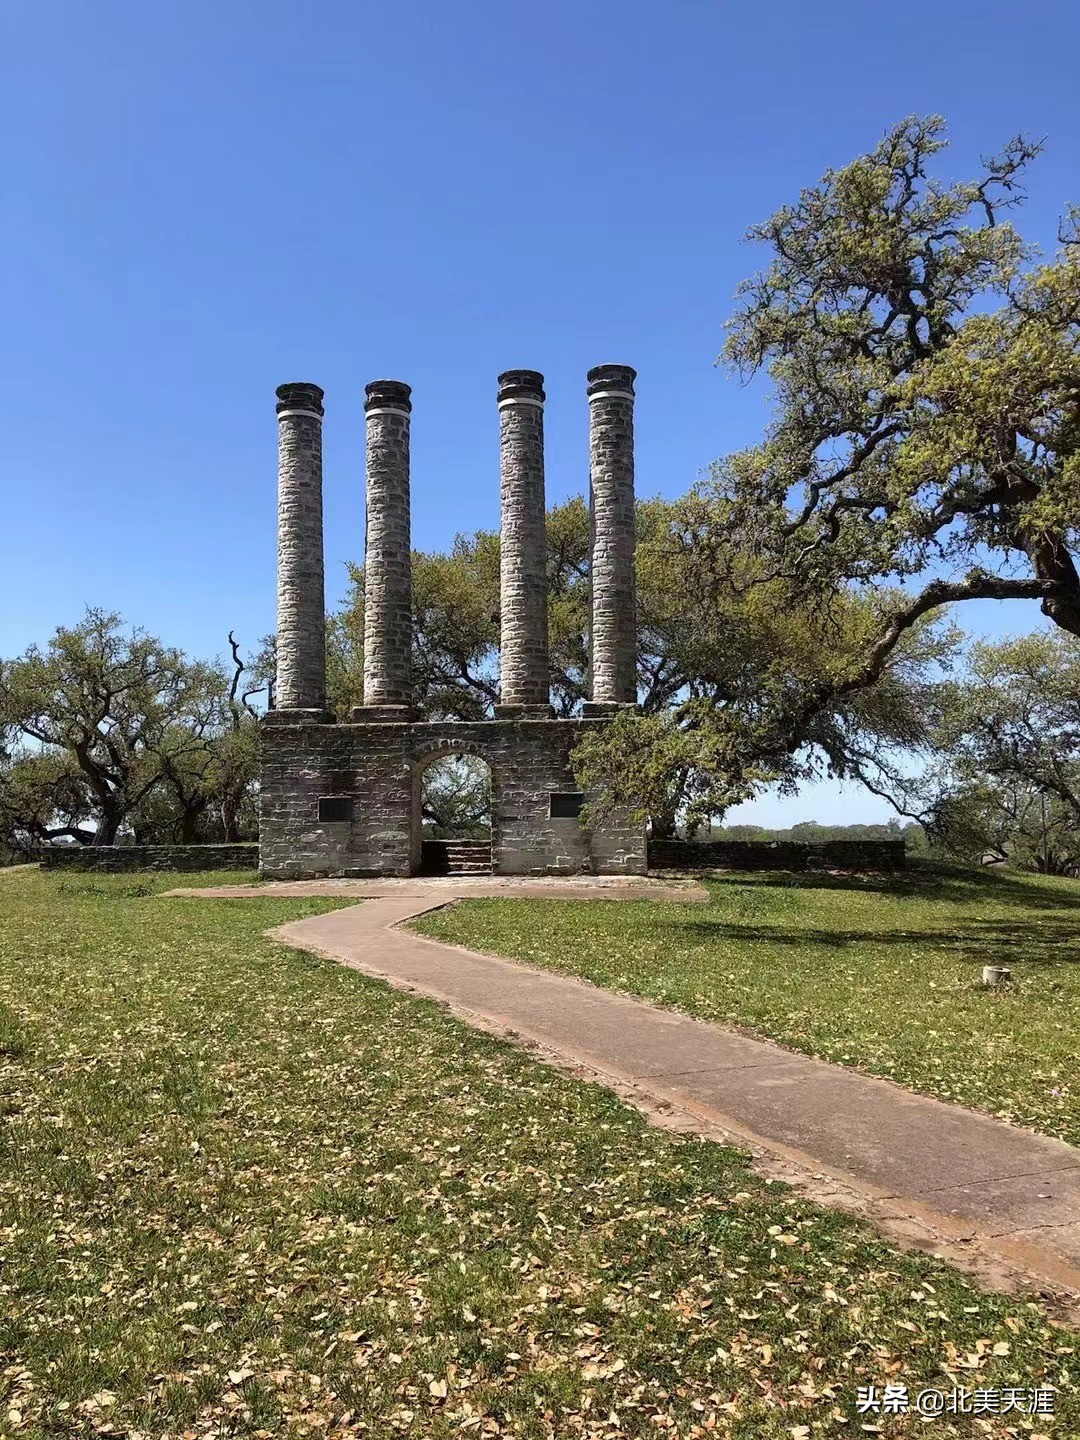
[[[772,723],[867,642],[881,599],[802,595],[786,580],[710,586],[684,543],[681,505],[636,507],[638,697],[642,720],[621,717],[577,756],[600,805],[631,805],[671,834],[721,814],[757,785],[788,786],[821,766],[847,773],[861,750],[917,743],[929,667],[955,645],[945,625],[913,628],[877,684],[821,706],[795,743]],[[550,688],[557,714],[588,696],[589,513],[576,497],[547,516]],[[328,688],[338,714],[363,691],[363,572],[328,622]],[[429,719],[478,720],[498,697],[498,536],[459,536],[449,554],[413,554],[416,700]],[[802,750],[799,755],[798,752]]]

